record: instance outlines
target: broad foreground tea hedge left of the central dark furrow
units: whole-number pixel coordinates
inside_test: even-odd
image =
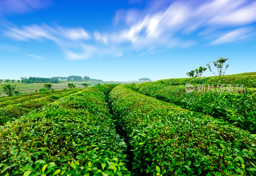
[[[100,85],[1,127],[1,175],[130,175]]]

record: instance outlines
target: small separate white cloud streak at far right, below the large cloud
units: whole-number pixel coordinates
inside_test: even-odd
[[[252,28],[238,28],[235,30],[232,30],[223,36],[217,38],[216,40],[212,41],[210,44],[225,44],[230,42],[235,42],[239,40],[244,40],[252,35],[253,29]]]

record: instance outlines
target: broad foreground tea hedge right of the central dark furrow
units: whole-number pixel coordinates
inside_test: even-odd
[[[119,85],[109,94],[145,175],[254,175],[255,136]],[[146,171],[146,173],[144,172]]]

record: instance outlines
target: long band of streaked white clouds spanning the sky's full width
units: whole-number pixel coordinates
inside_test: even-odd
[[[51,27],[43,23],[9,27],[3,35],[27,42],[52,40],[66,59],[81,60],[102,55],[118,57],[124,52],[145,54],[163,48],[188,48],[199,41],[213,45],[244,40],[255,34],[255,28],[248,27],[255,22],[255,0],[149,0],[144,9],[116,11],[113,23],[121,28],[119,31],[89,32],[81,27]]]

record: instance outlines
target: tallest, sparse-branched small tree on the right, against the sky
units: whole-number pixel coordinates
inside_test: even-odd
[[[223,65],[229,58],[221,58],[219,57],[218,60],[210,61],[208,64],[205,64],[208,66],[210,72],[212,72],[215,76],[223,76],[225,75],[225,71],[227,70],[229,64]],[[214,67],[218,70],[218,75],[215,74],[215,72],[212,71],[210,63],[213,62]]]

